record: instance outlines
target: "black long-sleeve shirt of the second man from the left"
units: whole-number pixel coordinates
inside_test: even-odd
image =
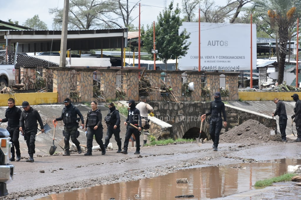
[[[24,110],[21,113],[19,127],[25,127],[25,131],[37,131],[37,122],[39,122],[41,129],[44,129],[44,124],[39,112],[30,107],[28,111]]]

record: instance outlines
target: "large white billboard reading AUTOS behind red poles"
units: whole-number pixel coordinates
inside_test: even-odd
[[[188,53],[179,59],[180,70],[198,70],[199,65],[199,23],[183,22],[190,34]],[[229,23],[201,23],[200,26],[201,71],[250,70],[251,65],[251,25]],[[256,25],[252,26],[252,62],[256,69]]]

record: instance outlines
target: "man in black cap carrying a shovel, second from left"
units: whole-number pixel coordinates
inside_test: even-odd
[[[36,153],[35,141],[38,132],[37,122],[39,122],[42,132],[44,132],[44,124],[39,112],[30,107],[28,102],[23,102],[22,108],[24,111],[20,116],[19,130],[24,132],[24,139],[26,140],[28,148],[29,159],[26,160],[26,162],[34,162],[33,154]]]

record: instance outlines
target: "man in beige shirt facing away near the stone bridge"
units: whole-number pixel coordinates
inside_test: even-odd
[[[154,109],[153,109],[153,107],[151,107],[151,105],[146,103],[146,96],[141,96],[140,100],[141,100],[141,102],[136,105],[136,108],[140,111],[143,132],[146,133],[146,134],[143,134],[143,144],[146,144],[147,135],[150,135],[148,133],[148,129],[150,128],[150,125],[149,125],[150,120],[147,118],[148,111],[150,113],[154,113]]]

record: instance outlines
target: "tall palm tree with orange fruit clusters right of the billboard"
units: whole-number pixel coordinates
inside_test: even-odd
[[[284,64],[287,53],[288,29],[301,15],[300,0],[254,0],[248,8],[254,13],[270,19],[271,28],[274,24],[279,35],[278,84],[283,83]]]

